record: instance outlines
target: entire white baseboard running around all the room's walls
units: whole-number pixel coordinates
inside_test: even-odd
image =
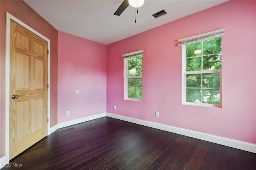
[[[52,132],[54,132],[55,130],[57,130],[59,128],[68,127],[68,126],[71,126],[71,125],[75,125],[75,124],[78,124],[78,123],[83,123],[83,122],[86,122],[86,121],[91,121],[91,120],[102,118],[102,117],[112,117],[112,118],[115,118],[115,119],[120,119],[122,121],[136,123],[138,125],[143,125],[143,126],[146,126],[146,127],[157,128],[157,129],[160,129],[160,130],[165,130],[165,131],[168,131],[168,132],[182,134],[182,135],[185,135],[185,136],[190,136],[192,138],[198,138],[198,139],[206,140],[206,141],[209,141],[209,142],[214,142],[214,143],[217,143],[217,144],[230,146],[232,148],[237,148],[237,149],[245,150],[245,151],[248,151],[248,152],[256,153],[256,144],[252,144],[252,143],[248,143],[248,142],[242,142],[242,141],[239,141],[239,140],[233,140],[233,139],[230,139],[230,138],[224,138],[224,137],[215,136],[215,135],[211,135],[211,134],[206,134],[206,133],[202,133],[202,132],[197,132],[197,131],[193,131],[193,130],[188,130],[188,129],[184,129],[184,128],[172,127],[172,126],[158,124],[158,123],[154,123],[154,122],[143,121],[143,120],[140,120],[140,119],[134,119],[134,118],[131,118],[131,117],[116,115],[116,114],[113,114],[113,113],[101,113],[101,114],[98,114],[98,115],[92,115],[92,116],[89,116],[89,117],[83,117],[83,118],[75,119],[75,120],[72,120],[72,121],[58,123],[57,125],[54,125],[53,127],[51,127],[48,130],[48,135],[50,135]],[[6,156],[0,158],[0,169],[3,168],[8,163],[9,163],[9,161],[6,159]]]

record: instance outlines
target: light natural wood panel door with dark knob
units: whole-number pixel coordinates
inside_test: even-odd
[[[10,21],[10,159],[47,135],[47,48]]]

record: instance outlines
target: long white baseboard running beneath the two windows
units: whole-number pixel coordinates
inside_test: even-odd
[[[107,117],[112,117],[112,118],[115,118],[115,119],[120,119],[122,121],[136,123],[138,125],[157,128],[157,129],[160,129],[160,130],[165,130],[165,131],[168,131],[168,132],[182,134],[182,135],[189,136],[189,137],[192,137],[192,138],[198,138],[198,139],[206,140],[206,141],[209,141],[209,142],[214,142],[214,143],[217,143],[217,144],[230,146],[232,148],[237,148],[237,149],[245,150],[245,151],[248,151],[248,152],[256,153],[256,144],[252,144],[252,143],[248,143],[248,142],[242,142],[242,141],[239,141],[239,140],[224,138],[224,137],[215,136],[215,135],[212,135],[212,134],[206,134],[206,133],[202,133],[202,132],[197,132],[197,131],[193,131],[193,130],[188,130],[188,129],[184,129],[184,128],[172,127],[172,126],[158,124],[158,123],[154,123],[154,122],[143,121],[143,120],[140,120],[140,119],[134,119],[134,118],[131,118],[131,117],[125,117],[125,116],[116,115],[116,114],[112,114],[112,113],[106,113],[106,116]]]

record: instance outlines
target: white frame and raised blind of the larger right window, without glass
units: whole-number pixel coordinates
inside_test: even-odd
[[[178,45],[182,46],[182,105],[194,105],[204,107],[222,107],[222,69],[218,70],[201,70],[201,71],[186,71],[186,44],[203,42],[206,40],[212,40],[214,38],[222,38],[225,35],[225,29],[220,29],[196,36],[183,38],[178,40]],[[205,74],[205,73],[220,73],[220,104],[208,104],[208,103],[193,103],[186,101],[186,75],[187,74]],[[201,86],[202,89],[202,86]]]

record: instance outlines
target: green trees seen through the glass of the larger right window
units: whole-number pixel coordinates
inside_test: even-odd
[[[222,38],[186,45],[186,102],[220,104]]]

